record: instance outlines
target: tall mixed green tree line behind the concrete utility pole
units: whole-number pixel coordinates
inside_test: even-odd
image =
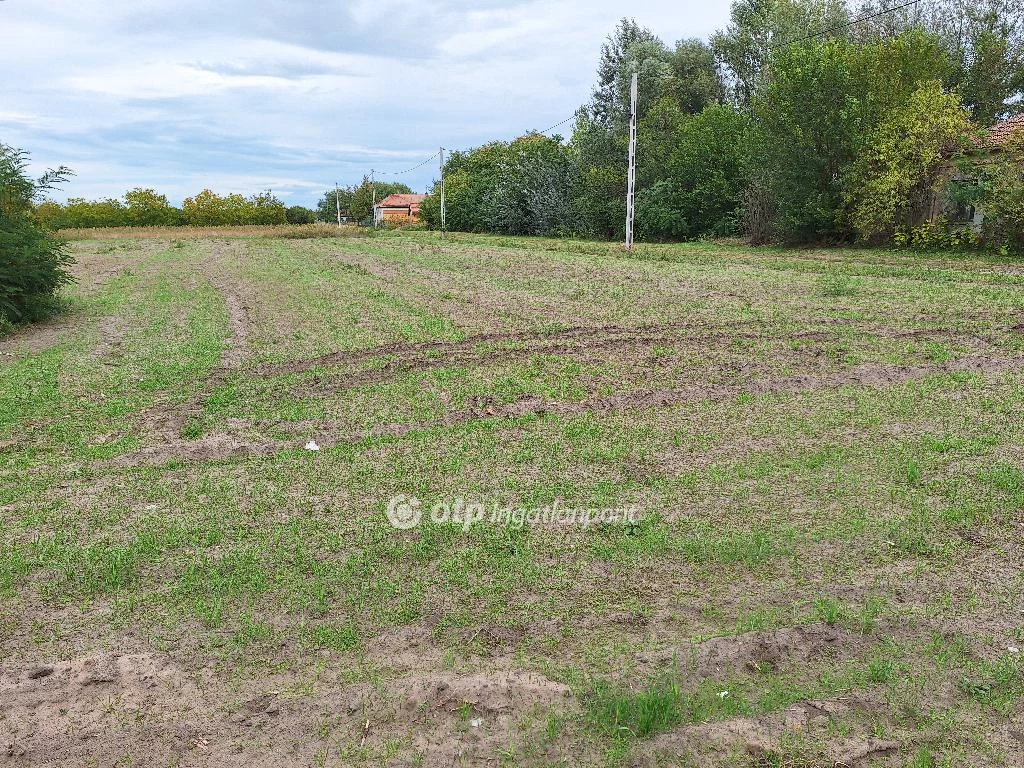
[[[570,136],[447,159],[446,224],[621,238],[637,73],[639,239],[1020,249],[1024,148],[986,153],[984,129],[1024,109],[1024,5],[897,5],[738,0],[725,30],[671,46],[623,19]],[[934,221],[937,202],[983,206],[982,233]],[[436,194],[422,211],[436,227]]]

